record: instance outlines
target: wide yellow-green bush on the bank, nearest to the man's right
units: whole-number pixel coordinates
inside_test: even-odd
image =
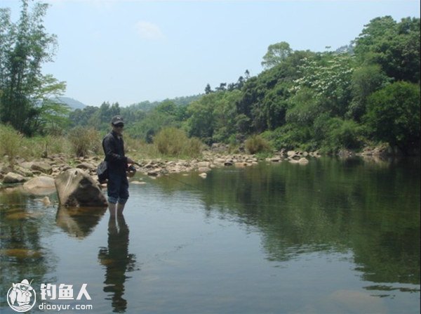
[[[197,138],[187,138],[184,131],[168,127],[162,129],[154,138],[157,150],[167,156],[180,155],[197,157],[201,154],[203,144]]]

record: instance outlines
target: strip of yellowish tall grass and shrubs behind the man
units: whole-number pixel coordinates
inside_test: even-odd
[[[199,157],[203,143],[197,138],[187,138],[184,131],[163,129],[147,144],[129,136],[124,137],[126,155],[132,158]],[[25,160],[64,154],[67,157],[102,155],[102,134],[95,129],[76,127],[67,136],[35,136],[27,138],[11,126],[0,125],[0,159],[7,156],[13,166],[18,157]]]

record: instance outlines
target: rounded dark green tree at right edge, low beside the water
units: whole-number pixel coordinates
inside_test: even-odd
[[[365,118],[375,139],[410,154],[420,145],[420,86],[399,81],[376,91]]]

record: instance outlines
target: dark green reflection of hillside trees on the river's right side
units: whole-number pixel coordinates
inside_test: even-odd
[[[352,251],[362,280],[405,291],[403,284],[420,284],[419,170],[415,160],[321,158],[157,183],[168,193],[194,187],[208,211],[257,227],[269,261]]]

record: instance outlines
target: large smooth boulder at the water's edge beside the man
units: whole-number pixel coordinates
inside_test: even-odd
[[[79,207],[107,207],[98,183],[82,169],[68,169],[55,178],[60,204]]]

